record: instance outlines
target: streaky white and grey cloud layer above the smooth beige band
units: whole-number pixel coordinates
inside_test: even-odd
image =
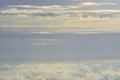
[[[106,6],[104,9],[102,6]],[[94,6],[94,7],[93,7]],[[99,6],[99,7],[98,7]],[[7,5],[0,9],[0,15],[2,16],[42,16],[42,17],[79,17],[79,18],[118,18],[119,9],[107,9],[112,6],[117,6],[117,3],[103,3],[103,2],[79,2],[72,5]],[[107,15],[106,15],[107,14]]]

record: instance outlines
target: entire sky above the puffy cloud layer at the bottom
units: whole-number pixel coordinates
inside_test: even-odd
[[[0,59],[120,57],[119,0],[0,0]]]

